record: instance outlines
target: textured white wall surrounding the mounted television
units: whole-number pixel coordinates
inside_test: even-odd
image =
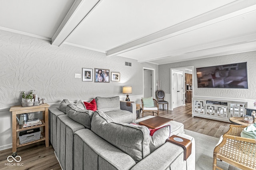
[[[196,68],[214,65],[223,65],[230,63],[240,63],[247,61],[248,71],[248,89],[214,89],[214,88],[197,88],[193,85],[194,96],[207,97],[224,97],[232,99],[256,99],[256,51],[237,53],[232,55],[223,55],[218,57],[210,57],[205,59],[196,59],[191,61],[183,61],[178,63],[170,63],[159,65],[159,79],[161,80],[161,88],[170,93],[170,68],[194,66],[193,79],[196,80]],[[196,82],[196,81],[194,81]]]

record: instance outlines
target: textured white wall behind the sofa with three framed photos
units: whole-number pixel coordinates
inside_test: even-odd
[[[125,66],[125,61],[132,67]],[[112,97],[122,94],[122,86],[132,86],[130,99],[140,102],[142,97],[143,67],[155,69],[158,65],[138,63],[124,57],[106,57],[104,53],[62,45],[51,45],[46,40],[0,30],[0,150],[12,142],[12,120],[9,109],[21,105],[20,91],[35,90],[46,103],[63,99],[90,100],[96,96]],[[82,68],[110,69],[120,72],[120,82],[95,83],[74,78]]]

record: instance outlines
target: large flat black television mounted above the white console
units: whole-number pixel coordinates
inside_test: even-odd
[[[247,62],[196,68],[198,88],[248,89]]]

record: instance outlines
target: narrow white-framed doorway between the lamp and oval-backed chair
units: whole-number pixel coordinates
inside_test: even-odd
[[[143,67],[143,97],[154,98],[155,70]]]

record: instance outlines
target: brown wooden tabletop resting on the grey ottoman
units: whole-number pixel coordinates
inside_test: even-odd
[[[148,128],[157,128],[170,121],[173,121],[173,119],[157,116],[157,117],[152,117],[150,119],[146,119],[145,121],[141,121],[139,122],[139,125],[144,125]]]

